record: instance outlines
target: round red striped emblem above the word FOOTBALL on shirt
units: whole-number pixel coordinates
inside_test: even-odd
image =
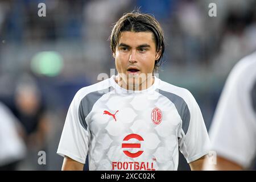
[[[144,139],[138,135],[138,134],[130,134],[130,135],[127,135],[123,141],[128,141],[130,139],[137,139],[139,141],[144,141]],[[141,143],[122,143],[122,148],[141,148]],[[125,155],[129,156],[130,158],[138,158],[138,156],[142,155],[144,151],[138,151],[138,152],[135,152],[135,153],[131,153],[127,150],[123,150],[123,153],[125,153]]]

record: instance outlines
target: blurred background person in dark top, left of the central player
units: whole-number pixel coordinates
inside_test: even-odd
[[[38,165],[38,152],[46,151],[49,125],[40,90],[31,76],[25,75],[20,78],[14,100],[14,113],[24,127],[28,148],[28,155],[20,169],[46,169],[46,166]]]

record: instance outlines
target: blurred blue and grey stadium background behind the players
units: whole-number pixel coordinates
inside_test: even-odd
[[[41,2],[46,17],[38,16]],[[209,3],[216,3],[216,17],[208,15]],[[0,101],[17,118],[27,152],[6,163],[0,158],[0,166],[61,169],[63,158],[56,150],[68,106],[77,90],[100,81],[99,73],[110,76],[115,67],[111,27],[138,7],[164,29],[159,77],[192,92],[209,129],[228,73],[256,50],[255,0],[1,0]],[[0,115],[0,127],[3,119]],[[4,132],[0,137],[8,140]],[[46,165],[38,164],[40,150],[46,151]],[[189,170],[182,155],[179,163],[179,169]]]

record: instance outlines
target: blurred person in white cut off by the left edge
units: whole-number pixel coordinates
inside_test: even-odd
[[[24,131],[13,113],[0,102],[0,171],[18,169],[26,155]]]

